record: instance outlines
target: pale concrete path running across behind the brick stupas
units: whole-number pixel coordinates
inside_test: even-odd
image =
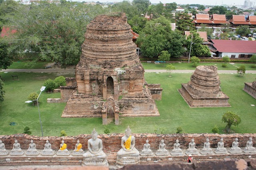
[[[60,68],[49,68],[49,69],[2,69],[1,72],[32,72],[32,73],[67,73],[74,74],[74,68],[60,69]],[[166,73],[165,69],[146,69],[145,73]],[[173,70],[172,73],[194,73],[194,70]],[[218,73],[237,73],[236,70],[218,70]],[[245,73],[256,74],[256,71],[246,71]]]

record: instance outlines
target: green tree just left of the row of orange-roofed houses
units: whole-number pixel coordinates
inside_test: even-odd
[[[176,13],[176,27],[178,30],[191,31],[195,30],[196,27],[192,23],[192,18],[187,13]]]

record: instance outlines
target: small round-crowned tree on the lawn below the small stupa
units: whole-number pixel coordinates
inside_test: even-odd
[[[226,132],[230,132],[230,127],[234,125],[237,127],[241,123],[241,118],[239,115],[236,115],[236,113],[233,113],[231,111],[227,111],[222,116],[222,122],[227,123],[225,130]]]

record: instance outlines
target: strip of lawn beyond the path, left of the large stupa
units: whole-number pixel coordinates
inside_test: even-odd
[[[37,61],[36,65],[32,69],[44,69],[46,65],[48,65],[48,61]],[[28,69],[26,66],[26,61],[14,61],[12,65],[8,67],[8,69]]]

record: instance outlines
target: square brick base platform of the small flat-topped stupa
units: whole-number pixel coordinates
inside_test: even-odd
[[[181,89],[179,89],[178,91],[190,107],[230,107],[230,104],[228,103],[229,97],[222,92],[220,97],[204,98],[190,93],[187,86],[188,83],[182,83]]]

